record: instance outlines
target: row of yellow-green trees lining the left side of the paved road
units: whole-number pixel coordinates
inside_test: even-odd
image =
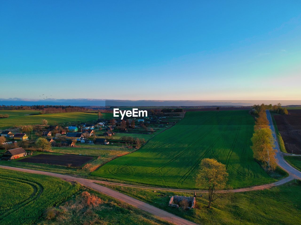
[[[254,134],[251,138],[254,158],[261,161],[268,170],[275,170],[277,160],[275,158],[275,145],[272,131],[265,112],[266,106],[262,104],[258,107],[258,117],[254,126]]]

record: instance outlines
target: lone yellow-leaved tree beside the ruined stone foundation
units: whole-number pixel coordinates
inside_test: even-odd
[[[226,166],[216,159],[205,158],[201,161],[200,170],[196,175],[196,183],[208,190],[208,208],[211,207],[213,201],[220,197],[216,191],[226,187],[228,175]]]

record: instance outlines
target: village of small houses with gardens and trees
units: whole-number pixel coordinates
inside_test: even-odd
[[[151,137],[174,125],[184,116],[183,112],[170,114],[162,113],[160,110],[151,110],[150,114],[150,116],[139,118],[120,119],[98,113],[97,120],[69,122],[67,126],[65,123],[48,125],[48,121],[42,119],[41,125],[21,126],[18,129],[20,133],[14,132],[17,130],[16,128],[6,129],[0,133],[1,147],[5,149],[1,160],[19,160],[26,156],[25,158],[31,158],[23,159],[20,163],[30,161],[55,165],[57,161],[52,161],[49,153],[68,153],[70,148],[78,149],[75,153],[77,155],[92,156],[99,155],[97,149],[108,152],[113,152],[112,149],[122,149],[122,151],[127,149],[124,153],[119,153],[119,155],[123,155],[139,149]],[[93,152],[89,153],[91,149]],[[41,152],[48,152],[48,154],[43,154],[42,160]],[[72,152],[74,155],[74,151]],[[39,159],[35,161],[36,157]],[[66,155],[57,155],[56,157],[63,159],[66,158]],[[84,164],[86,162],[88,161],[84,161]],[[75,164],[71,162],[71,165]],[[69,165],[70,167],[70,163],[66,163],[64,160],[58,162],[57,165]],[[83,165],[77,165],[77,167],[83,167]]]

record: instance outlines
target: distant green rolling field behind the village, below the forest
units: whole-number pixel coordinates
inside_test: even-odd
[[[21,125],[41,124],[42,119],[46,119],[49,125],[63,124],[67,122],[85,122],[97,120],[97,113],[53,113],[41,115],[29,115],[31,113],[39,113],[36,110],[1,110],[0,114],[8,114],[9,118],[0,119],[0,129],[7,129]],[[110,117],[110,114],[105,115]],[[113,114],[112,114],[113,115]],[[66,124],[67,125],[67,124]]]

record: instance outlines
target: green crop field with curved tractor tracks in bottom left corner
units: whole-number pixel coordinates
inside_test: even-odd
[[[0,224],[33,224],[78,189],[58,178],[0,169]]]

